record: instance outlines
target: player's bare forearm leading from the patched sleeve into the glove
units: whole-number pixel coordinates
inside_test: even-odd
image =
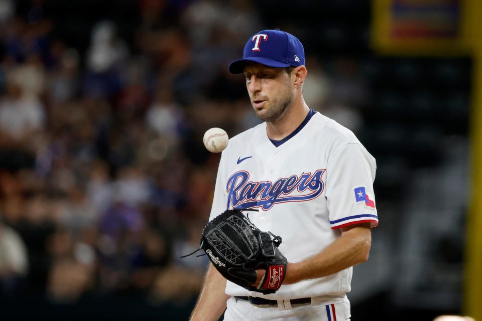
[[[368,259],[371,232],[357,226],[344,231],[342,236],[318,254],[301,262],[288,263],[283,284],[296,283],[330,275]]]

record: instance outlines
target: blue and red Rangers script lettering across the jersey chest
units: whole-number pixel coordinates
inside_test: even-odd
[[[280,178],[276,182],[249,182],[250,174],[239,171],[227,180],[227,208],[257,208],[267,211],[276,203],[303,202],[318,197],[324,189],[322,176],[326,170],[314,174],[303,173],[299,177]],[[291,195],[301,194],[301,195]],[[283,197],[283,195],[286,195]]]

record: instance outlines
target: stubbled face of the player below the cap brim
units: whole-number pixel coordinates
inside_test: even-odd
[[[291,74],[285,68],[249,64],[244,69],[246,87],[258,118],[276,121],[293,101]]]

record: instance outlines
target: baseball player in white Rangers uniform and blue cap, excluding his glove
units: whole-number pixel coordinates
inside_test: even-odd
[[[263,30],[250,38],[243,73],[264,122],[223,150],[210,219],[226,209],[249,212],[261,230],[280,235],[288,263],[273,294],[226,281],[212,266],[191,320],[349,320],[352,266],[368,259],[378,225],[375,158],[355,135],[303,100],[304,49],[293,35]],[[262,280],[263,270],[257,270]]]

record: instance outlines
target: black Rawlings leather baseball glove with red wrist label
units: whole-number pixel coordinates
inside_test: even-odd
[[[273,236],[273,238],[272,238]],[[278,246],[281,237],[258,229],[240,210],[224,211],[207,223],[201,245],[212,264],[226,279],[250,291],[275,293],[286,274],[286,257]],[[258,287],[257,269],[265,276]]]

